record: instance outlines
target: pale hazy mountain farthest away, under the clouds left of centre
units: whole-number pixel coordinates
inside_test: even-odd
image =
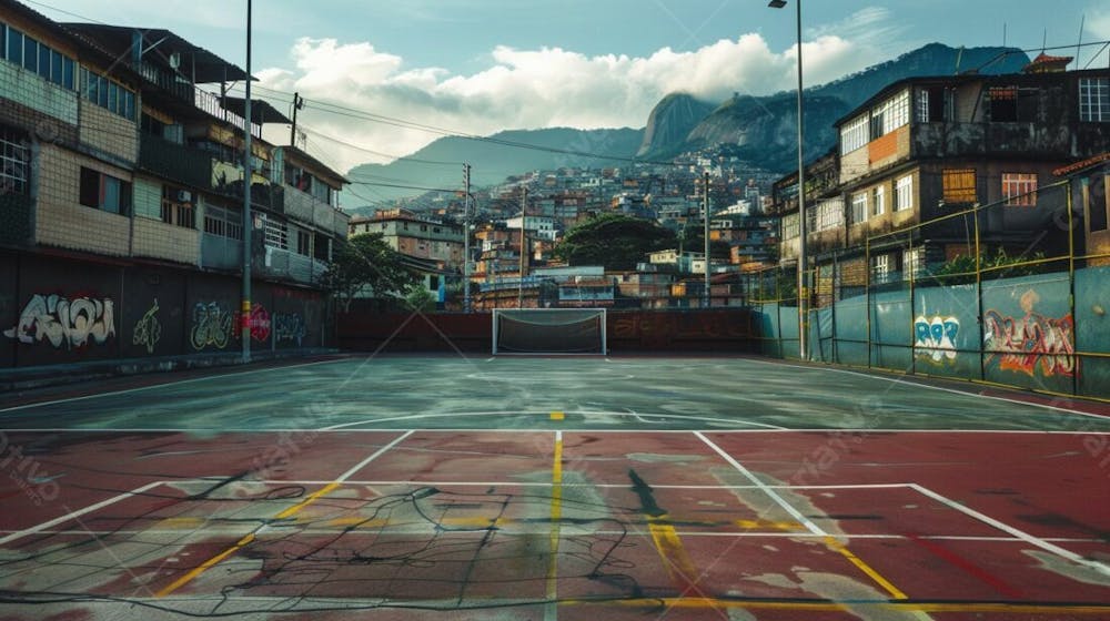
[[[618,163],[612,157],[633,157],[644,131],[514,130],[487,139],[441,138],[407,157],[389,164],[362,164],[347,173],[352,181],[344,205],[365,204],[422,194],[422,190],[390,187],[407,185],[445,190],[462,189],[463,162],[471,164],[471,184],[494,185],[505,177],[534,170],[602,167]],[[514,144],[528,147],[513,146]],[[538,149],[532,149],[538,147]],[[592,153],[608,157],[583,155]]]

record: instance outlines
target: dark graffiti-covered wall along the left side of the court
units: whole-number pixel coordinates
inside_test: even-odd
[[[0,253],[0,368],[234,353],[240,279],[162,266]],[[256,282],[254,350],[330,343],[317,292]]]

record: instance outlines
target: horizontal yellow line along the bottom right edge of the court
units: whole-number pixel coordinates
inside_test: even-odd
[[[794,601],[794,600],[729,600],[716,598],[639,598],[620,600],[563,600],[564,605],[615,605],[656,610],[685,609],[749,609],[842,612],[858,609],[896,610],[906,612],[1009,613],[1009,614],[1110,614],[1110,604],[1042,604],[998,602],[915,602],[915,601]]]

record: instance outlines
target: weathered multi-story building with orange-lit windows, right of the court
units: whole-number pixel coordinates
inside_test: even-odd
[[[1066,252],[1054,224],[1062,192],[1046,186],[1054,170],[1110,150],[1110,71],[1042,70],[1067,60],[1042,54],[1020,74],[901,80],[838,121],[836,151],[807,165],[815,264],[836,254],[845,274],[908,277],[971,254],[976,232],[985,248]],[[775,186],[784,263],[799,244],[791,176]],[[971,207],[982,208],[946,220]],[[870,265],[855,266],[865,246]]]

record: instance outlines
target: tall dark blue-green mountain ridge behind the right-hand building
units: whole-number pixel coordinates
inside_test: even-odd
[[[1017,73],[1028,62],[1029,57],[1013,48],[956,49],[930,43],[840,80],[806,89],[806,153],[811,157],[831,149],[837,139],[833,123],[894,82],[968,70]],[[754,166],[786,172],[797,167],[797,99],[793,92],[734,96],[706,115],[684,139],[654,140],[639,155],[658,159],[682,151],[729,145],[731,154]]]

